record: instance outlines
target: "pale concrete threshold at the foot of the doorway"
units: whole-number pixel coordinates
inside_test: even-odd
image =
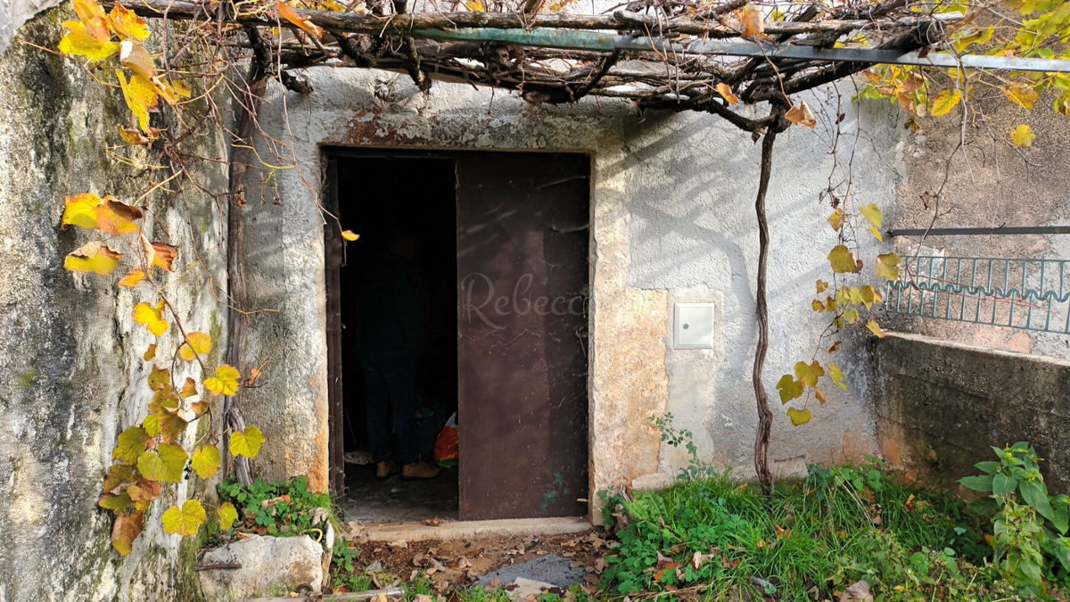
[[[500,537],[564,536],[591,531],[586,516],[554,518],[503,518],[496,521],[448,521],[432,527],[426,523],[361,525],[366,541],[478,540]]]

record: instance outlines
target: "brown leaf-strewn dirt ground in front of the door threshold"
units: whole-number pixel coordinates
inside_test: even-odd
[[[361,555],[354,566],[367,572],[377,586],[394,580],[409,581],[422,573],[438,592],[471,585],[480,575],[509,565],[557,554],[582,568],[585,588],[595,589],[606,569],[603,560],[609,546],[602,530],[590,533],[554,537],[496,538],[473,541],[363,542],[355,544]],[[489,588],[509,584],[491,583]]]

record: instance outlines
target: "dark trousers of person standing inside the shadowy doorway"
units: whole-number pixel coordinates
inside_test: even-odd
[[[391,420],[397,433],[399,464],[419,456],[416,441],[416,356],[411,351],[361,351],[368,413],[368,438],[376,462],[391,458]]]

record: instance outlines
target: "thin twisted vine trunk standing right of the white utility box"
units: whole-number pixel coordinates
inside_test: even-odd
[[[782,114],[781,114],[782,115]],[[769,175],[773,172],[773,144],[781,131],[780,115],[766,131],[762,138],[762,174],[758,183],[758,197],[754,199],[754,212],[758,214],[758,349],[754,351],[754,370],[751,378],[754,382],[754,397],[758,402],[758,434],[754,436],[754,470],[758,482],[762,485],[762,494],[773,495],[773,472],[769,470],[769,432],[773,428],[773,410],[765,394],[762,382],[762,368],[765,366],[765,353],[769,349],[769,307],[766,304],[765,274],[769,261],[769,224],[765,215],[765,194],[769,189]]]

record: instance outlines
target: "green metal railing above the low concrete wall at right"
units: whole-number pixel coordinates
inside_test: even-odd
[[[1066,259],[908,256],[889,313],[1070,334]]]

